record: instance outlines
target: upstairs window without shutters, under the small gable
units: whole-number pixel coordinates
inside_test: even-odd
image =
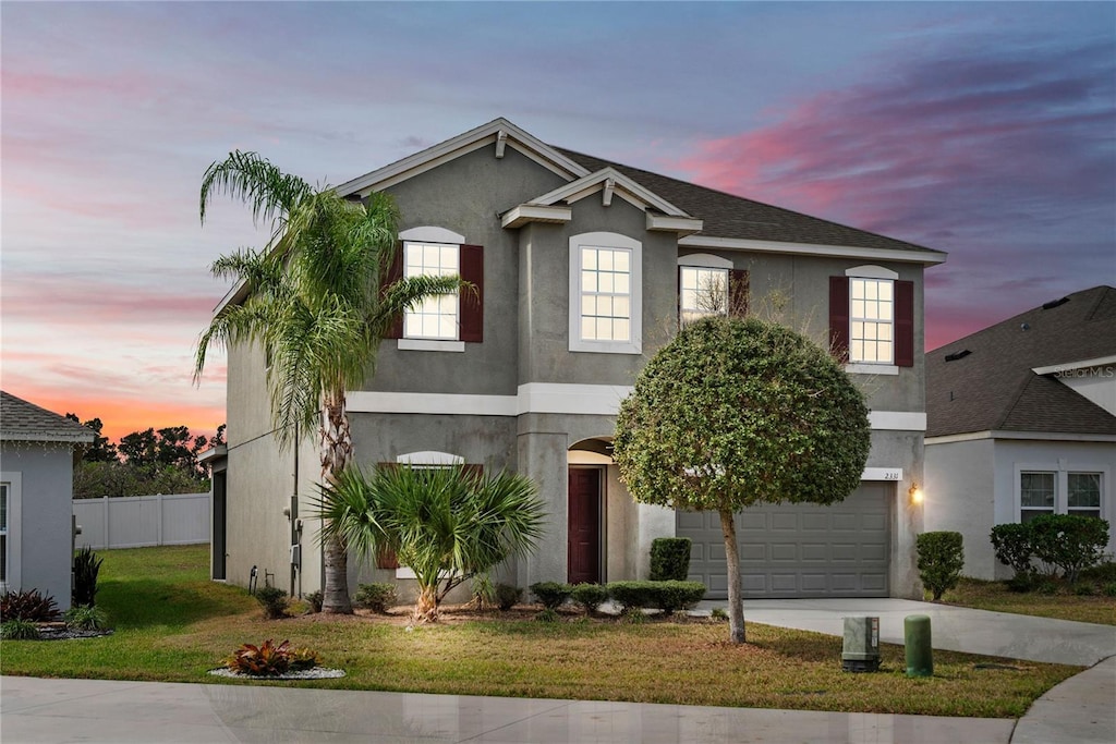
[[[639,354],[642,243],[616,233],[570,238],[570,351]]]

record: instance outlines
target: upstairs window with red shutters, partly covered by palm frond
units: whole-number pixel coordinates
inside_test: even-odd
[[[463,351],[464,344],[484,340],[484,249],[464,240],[444,228],[412,228],[400,233],[385,287],[422,274],[458,274],[471,286],[406,310],[387,332],[387,338],[400,339],[401,349]]]

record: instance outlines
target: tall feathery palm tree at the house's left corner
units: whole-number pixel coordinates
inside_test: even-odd
[[[267,370],[271,415],[280,445],[317,432],[321,481],[333,483],[353,457],[346,390],[375,367],[379,340],[404,309],[456,291],[458,277],[412,277],[381,291],[396,244],[398,212],[389,195],[352,202],[312,189],[256,153],[233,152],[205,171],[201,220],[214,194],[250,204],[257,223],[270,222],[259,250],[222,255],[211,270],[246,289],[225,305],[198,342],[194,380],[213,345],[258,344]],[[323,610],[352,613],[345,542],[325,543]]]

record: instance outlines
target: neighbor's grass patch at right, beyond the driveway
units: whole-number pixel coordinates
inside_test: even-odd
[[[1084,582],[1078,586],[1084,586]],[[1091,588],[1091,596],[1077,595],[1074,587],[1058,583],[1046,590],[1049,592],[1052,589],[1054,593],[1037,590],[1020,593],[1008,589],[1004,581],[963,578],[956,589],[945,592],[942,601],[993,612],[1116,625],[1116,597],[1105,596],[1104,586],[1097,582]]]

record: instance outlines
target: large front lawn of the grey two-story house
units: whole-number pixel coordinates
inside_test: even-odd
[[[749,644],[733,647],[725,625],[693,619],[632,625],[569,615],[543,624],[450,615],[410,631],[398,618],[266,621],[242,589],[205,579],[204,545],[100,554],[98,605],[116,634],[3,641],[3,674],[1018,717],[1080,670],[935,651],[935,676],[907,679],[902,647],[885,645],[881,673],[847,674],[840,638],[749,624]],[[309,646],[348,676],[244,683],[205,674],[240,644],[264,638]]]

